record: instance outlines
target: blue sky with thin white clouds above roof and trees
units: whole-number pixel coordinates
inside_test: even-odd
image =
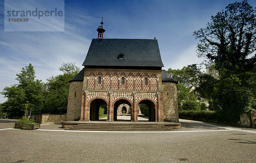
[[[65,0],[64,32],[5,32],[4,0],[0,0],[0,91],[17,84],[22,67],[35,67],[44,82],[61,74],[62,62],[82,68],[101,17],[104,38],[157,38],[163,69],[182,68],[202,59],[196,56],[193,31],[235,0]],[[255,0],[248,0],[255,7]],[[6,101],[0,95],[0,103]]]

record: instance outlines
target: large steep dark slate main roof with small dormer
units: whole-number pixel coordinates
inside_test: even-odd
[[[118,59],[119,54],[124,59]],[[83,66],[163,67],[157,39],[93,39]]]

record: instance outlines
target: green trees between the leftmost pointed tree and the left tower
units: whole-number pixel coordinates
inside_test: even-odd
[[[67,113],[67,100],[69,92],[69,81],[76,76],[79,68],[75,63],[63,63],[59,70],[64,74],[52,76],[47,79],[47,95],[44,103],[43,113],[65,114]]]

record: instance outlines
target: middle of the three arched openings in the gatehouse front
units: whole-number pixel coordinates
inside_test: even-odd
[[[121,107],[121,109],[119,110],[119,111],[121,111],[122,112],[122,110],[124,109],[124,110],[126,110],[126,112],[128,112],[129,111],[129,108],[131,108],[131,101],[128,101],[128,99],[123,99],[123,98],[121,98],[121,99],[119,99],[119,100],[116,100],[116,101],[114,101],[114,103],[113,103],[113,110],[114,110],[114,112],[113,112],[113,120],[114,121],[116,121],[116,120],[118,120],[117,119],[117,112],[118,112],[118,108],[120,109],[120,107],[119,106],[122,106]],[[125,107],[125,108],[124,108]],[[128,108],[127,108],[128,107]],[[131,109],[130,109],[131,110]],[[120,113],[120,112],[119,112]],[[122,118],[123,119],[123,118]],[[129,121],[131,118],[130,117],[127,117],[127,118],[125,118],[125,119],[127,119],[127,121]],[[123,119],[123,121],[125,121],[125,119]]]

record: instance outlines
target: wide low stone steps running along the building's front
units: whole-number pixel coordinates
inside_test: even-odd
[[[83,123],[70,126],[65,130],[84,130],[84,131],[172,131],[180,128],[179,123]]]

